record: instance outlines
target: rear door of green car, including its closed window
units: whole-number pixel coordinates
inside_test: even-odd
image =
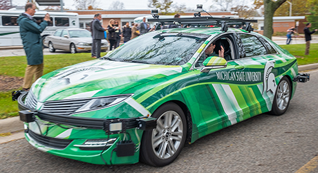
[[[248,78],[254,80],[255,76],[257,77],[251,88],[254,95],[250,98],[250,106],[253,108],[251,116],[270,111],[279,82],[279,78],[276,78],[278,71],[275,66],[283,59],[279,58],[277,52],[270,47],[268,42],[259,36],[240,33],[238,39],[241,39],[241,46],[245,50],[243,63],[250,69]]]

